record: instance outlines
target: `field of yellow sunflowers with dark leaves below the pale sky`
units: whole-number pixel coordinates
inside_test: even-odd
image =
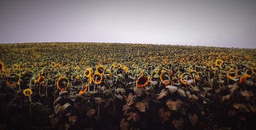
[[[256,49],[0,44],[0,129],[256,129]]]

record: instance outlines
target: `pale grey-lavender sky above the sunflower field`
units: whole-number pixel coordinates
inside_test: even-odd
[[[256,48],[255,0],[1,0],[0,42]]]

